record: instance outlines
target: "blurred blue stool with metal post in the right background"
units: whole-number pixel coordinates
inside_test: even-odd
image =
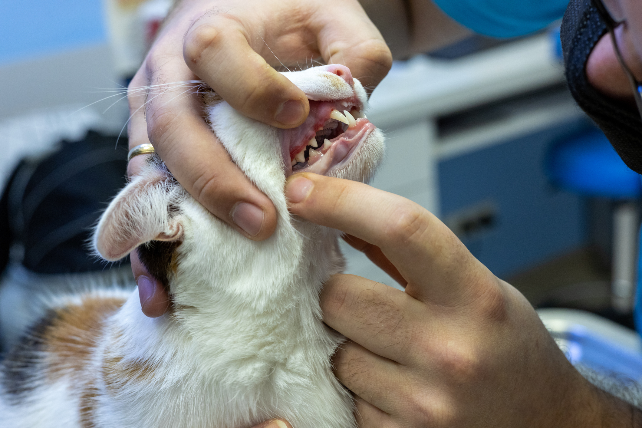
[[[548,153],[548,175],[562,189],[586,196],[610,198],[620,203],[613,219],[613,269],[611,304],[620,314],[630,314],[638,264],[639,219],[636,200],[642,198],[642,182],[621,160],[598,130],[591,130],[560,142]],[[642,275],[640,275],[642,277]],[[637,308],[642,309],[641,299]],[[636,311],[636,325],[642,327],[642,311]],[[639,315],[639,317],[638,317]],[[639,318],[639,320],[638,320]],[[639,321],[639,322],[638,322]]]

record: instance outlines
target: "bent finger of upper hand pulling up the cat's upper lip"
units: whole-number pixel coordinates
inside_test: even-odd
[[[241,23],[206,13],[187,31],[186,64],[245,116],[278,128],[293,128],[308,117],[306,94],[273,69],[248,44]]]

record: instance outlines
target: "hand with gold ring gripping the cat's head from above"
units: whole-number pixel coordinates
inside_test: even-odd
[[[246,237],[266,239],[276,227],[272,202],[216,140],[189,82],[204,80],[242,114],[291,128],[308,116],[308,99],[270,65],[303,65],[313,58],[347,65],[370,88],[392,64],[385,41],[356,0],[183,0],[130,83],[130,148],[151,142],[205,208]],[[132,158],[130,175],[144,158]],[[144,281],[143,312],[160,316],[168,300],[163,284],[132,259],[134,277]]]

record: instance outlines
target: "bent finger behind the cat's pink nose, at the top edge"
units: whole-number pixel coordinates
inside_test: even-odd
[[[317,44],[327,64],[343,64],[370,92],[388,74],[392,53],[358,1],[340,0],[336,13],[319,13]],[[325,6],[330,10],[329,6]]]

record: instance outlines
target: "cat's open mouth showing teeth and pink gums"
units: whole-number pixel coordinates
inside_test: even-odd
[[[375,126],[356,99],[309,103],[310,114],[301,126],[281,130],[283,157],[291,173],[325,174],[349,160]]]

